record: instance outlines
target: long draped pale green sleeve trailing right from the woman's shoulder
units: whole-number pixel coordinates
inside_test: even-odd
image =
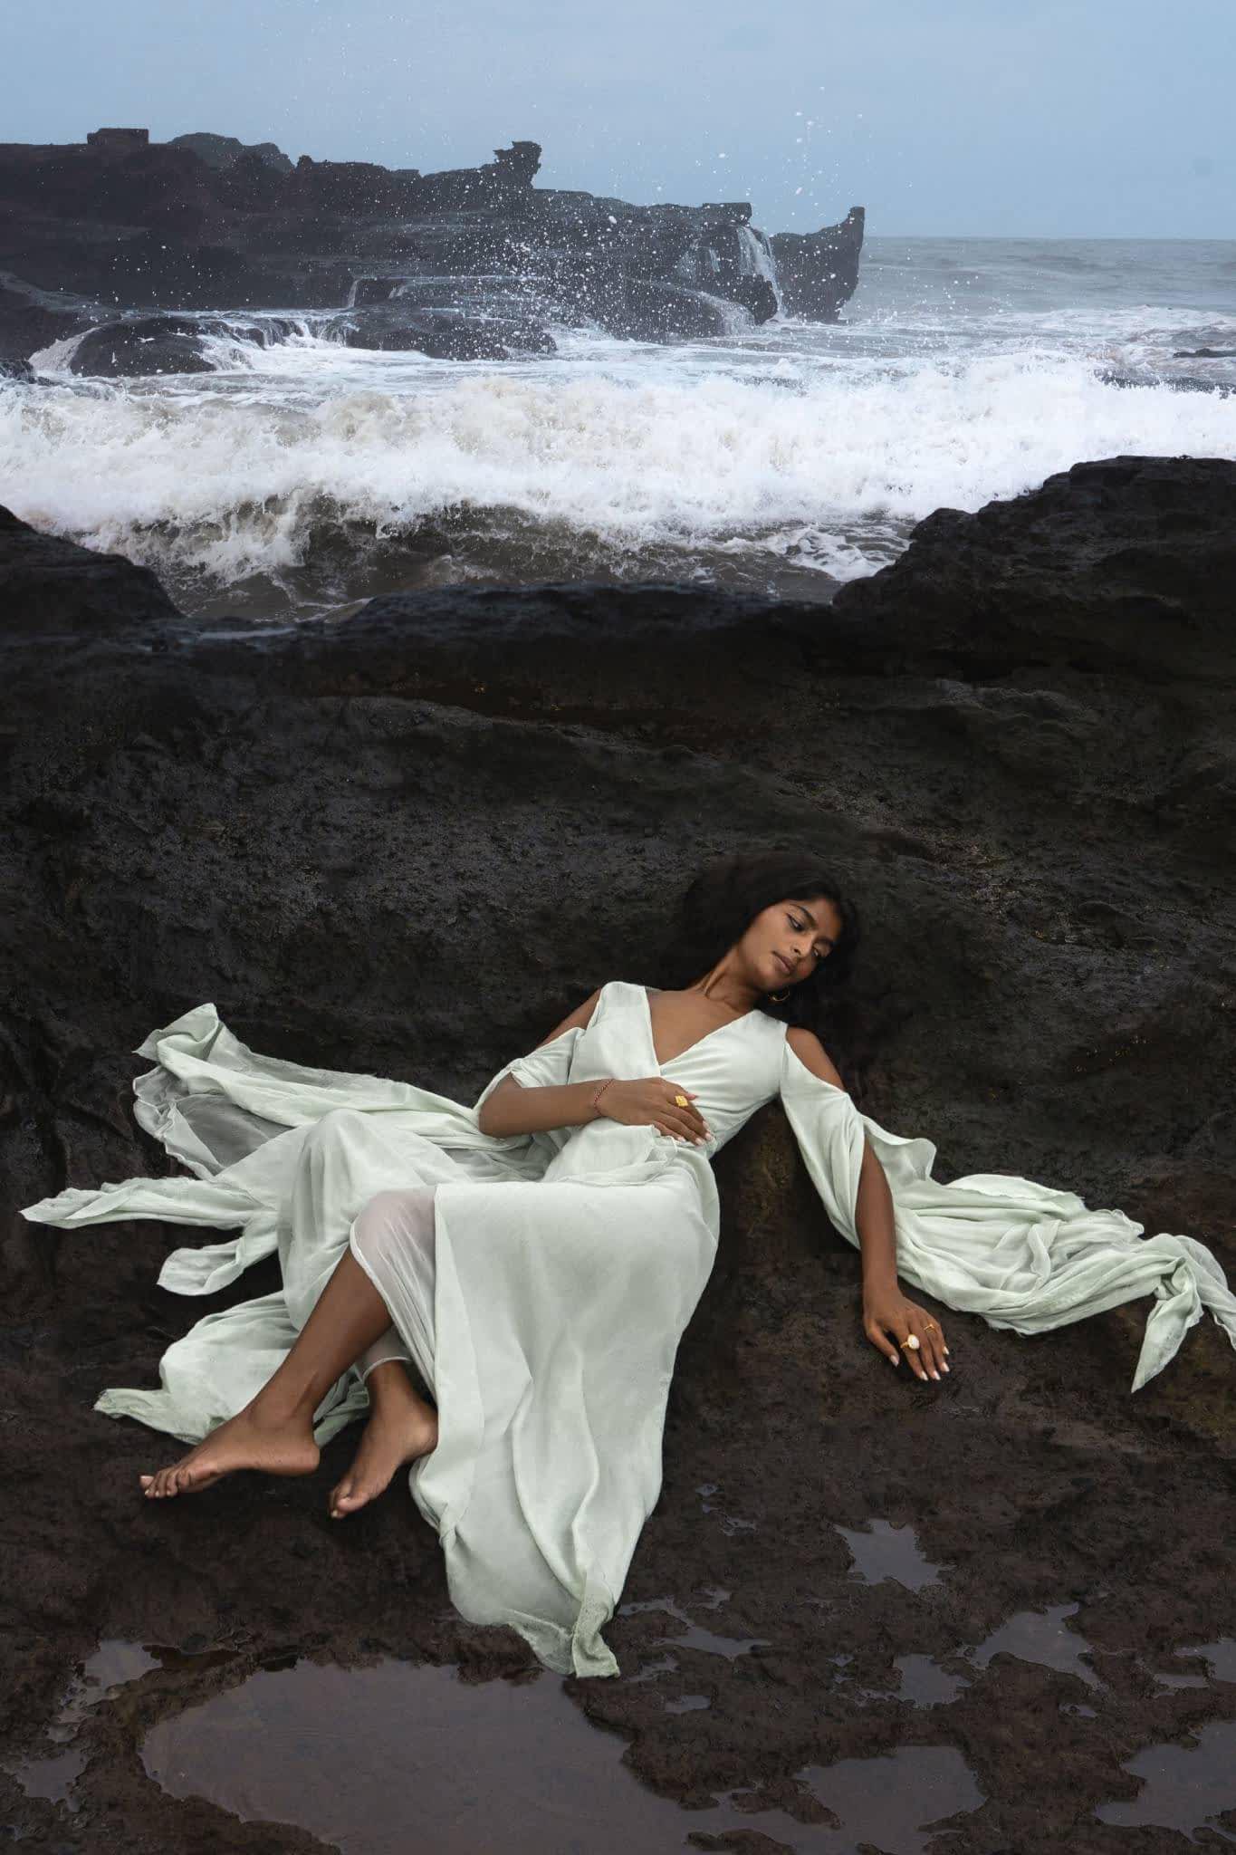
[[[860,1247],[864,1145],[884,1167],[897,1232],[897,1274],[995,1328],[1041,1334],[1153,1295],[1130,1389],[1175,1356],[1210,1311],[1236,1347],[1236,1297],[1193,1237],[1143,1235],[1123,1211],[1091,1211],[1077,1193],[1001,1172],[932,1178],[928,1139],[889,1133],[823,1081],[786,1043],[780,1098],[834,1228]]]

